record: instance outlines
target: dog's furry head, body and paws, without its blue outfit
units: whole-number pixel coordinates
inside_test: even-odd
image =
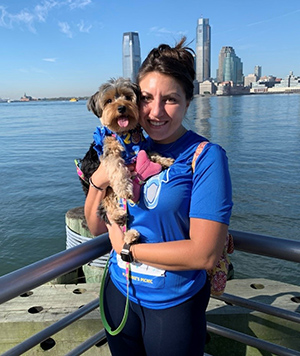
[[[91,96],[87,107],[100,118],[103,126],[117,135],[124,135],[138,126],[139,98],[139,87],[129,79],[111,79]],[[119,204],[119,198],[133,198],[131,173],[122,158],[123,151],[124,147],[115,137],[107,136],[104,139],[103,155],[100,157],[100,162],[106,169],[111,186],[107,188],[106,196],[101,202],[99,215],[107,223],[110,223],[107,213],[110,219],[119,225],[125,225],[127,219],[126,211]],[[97,153],[95,153],[92,144],[84,159],[81,160],[81,169],[86,178],[89,178],[99,166],[99,160],[96,158]],[[149,157],[153,162],[161,164],[163,168],[169,167],[174,161],[154,153]],[[91,160],[90,163],[87,163],[89,160]],[[83,189],[87,193],[84,184]],[[131,229],[125,233],[124,241],[131,243],[138,237],[139,233]]]

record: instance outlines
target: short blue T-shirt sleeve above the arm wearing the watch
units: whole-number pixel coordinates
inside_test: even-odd
[[[232,206],[226,152],[219,145],[208,143],[195,165],[190,217],[229,225]]]

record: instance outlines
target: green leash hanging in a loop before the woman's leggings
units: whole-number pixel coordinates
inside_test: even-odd
[[[109,258],[107,259],[105,268],[104,268],[104,272],[103,272],[103,276],[102,276],[102,281],[101,281],[101,286],[100,286],[100,295],[99,295],[99,305],[100,305],[100,315],[101,315],[101,319],[102,319],[102,323],[103,326],[105,327],[106,331],[112,335],[115,336],[117,334],[119,334],[119,332],[122,331],[122,329],[124,328],[127,318],[128,318],[128,311],[129,311],[129,276],[130,276],[130,263],[127,262],[126,263],[126,281],[127,281],[127,297],[126,297],[126,304],[125,304],[125,310],[124,310],[124,315],[123,315],[123,319],[120,323],[120,325],[115,329],[112,330],[110,325],[108,324],[106,317],[105,317],[105,313],[104,313],[104,301],[103,301],[103,296],[104,296],[104,282],[107,276],[107,271],[108,271],[108,263],[109,263]]]

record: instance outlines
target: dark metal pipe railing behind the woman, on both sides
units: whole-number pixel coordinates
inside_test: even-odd
[[[257,235],[236,230],[230,231],[234,236],[235,249],[283,259],[292,262],[300,262],[300,241],[280,239],[270,236]],[[272,248],[270,248],[272,246]],[[44,283],[47,283],[63,274],[69,273],[82,265],[98,258],[109,252],[111,245],[107,234],[84,242],[79,246],[45,258],[33,263],[27,267],[21,268],[0,277],[0,304],[13,299],[30,289],[34,289]],[[215,297],[214,297],[215,298]],[[240,298],[234,295],[224,293],[217,297],[226,303],[246,307],[251,310],[260,311],[269,315],[274,315],[296,323],[300,323],[300,316],[296,312],[272,307],[263,303],[254,302],[248,299]],[[86,304],[82,308],[69,314],[63,319],[53,323],[39,333],[33,335],[27,340],[6,351],[2,355],[19,356],[30,350],[34,346],[47,340],[50,336],[67,327],[71,323],[80,319],[92,310],[98,308],[98,298]],[[208,323],[209,332],[239,341],[279,356],[300,356],[300,352],[283,346],[279,346],[255,337],[242,334],[235,330],[223,326]],[[105,342],[105,332],[101,330],[84,343],[71,350],[67,355],[81,355],[92,346]]]

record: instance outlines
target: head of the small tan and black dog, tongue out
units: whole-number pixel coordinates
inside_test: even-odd
[[[100,118],[103,126],[123,133],[138,124],[139,87],[129,79],[112,79],[101,85],[88,101],[87,107]]]

